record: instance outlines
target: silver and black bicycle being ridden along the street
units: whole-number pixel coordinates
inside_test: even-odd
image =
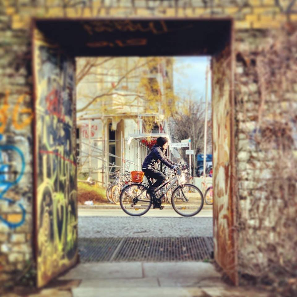
[[[176,213],[184,217],[192,217],[200,212],[203,208],[204,197],[202,192],[194,185],[184,183],[185,177],[181,175],[181,170],[174,170],[174,176],[161,185],[156,192],[161,191],[163,196],[174,186],[178,186],[174,189],[171,195],[171,204]],[[181,176],[180,176],[181,175]],[[152,197],[147,193],[149,186],[152,185],[151,179],[146,175],[149,181],[148,185],[142,183],[131,183],[123,188],[120,194],[120,205],[125,213],[130,216],[141,216],[149,211],[152,206]]]

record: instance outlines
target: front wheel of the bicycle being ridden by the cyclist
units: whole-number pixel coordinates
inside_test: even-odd
[[[186,183],[177,187],[171,196],[173,209],[183,217],[195,216],[203,207],[203,194],[194,185]]]

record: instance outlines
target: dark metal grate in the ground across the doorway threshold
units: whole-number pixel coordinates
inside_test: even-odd
[[[80,238],[81,263],[201,261],[211,259],[212,237]]]

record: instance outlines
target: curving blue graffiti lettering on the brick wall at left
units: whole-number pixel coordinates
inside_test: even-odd
[[[0,134],[0,140],[2,139],[2,135]],[[17,154],[19,154],[21,158],[21,170],[19,172],[18,177],[14,181],[8,181],[7,180],[7,172],[9,171],[9,164],[3,164],[3,158],[2,158],[2,151],[15,151]],[[22,178],[24,174],[25,169],[25,158],[24,154],[21,152],[21,150],[14,145],[0,145],[0,200],[7,202],[9,205],[12,205],[15,203],[14,200],[5,198],[4,194],[15,184],[19,183],[20,179]],[[25,217],[26,217],[26,210],[24,209],[24,206],[21,203],[17,204],[21,211],[22,211],[22,218],[19,222],[9,222],[6,219],[4,219],[2,216],[0,216],[0,221],[2,221],[4,224],[6,224],[9,228],[16,228],[24,224]]]

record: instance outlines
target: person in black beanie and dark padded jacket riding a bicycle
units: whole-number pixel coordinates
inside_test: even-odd
[[[149,187],[149,194],[153,198],[153,208],[164,209],[164,206],[161,205],[162,201],[160,198],[156,196],[156,189],[157,187],[161,186],[162,183],[166,180],[165,175],[158,171],[155,166],[157,162],[161,162],[164,165],[170,167],[171,169],[178,170],[178,164],[170,161],[165,156],[165,151],[168,147],[168,139],[166,137],[158,137],[157,144],[155,144],[150,153],[146,156],[142,164],[142,170],[146,176],[150,178],[156,179],[156,182]]]

